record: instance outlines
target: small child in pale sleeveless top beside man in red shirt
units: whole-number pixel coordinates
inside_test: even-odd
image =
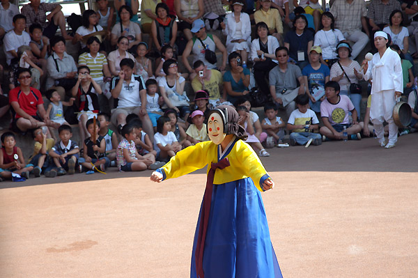
[[[46,114],[49,115],[52,127],[59,128],[60,125],[70,125],[65,121],[63,106],[72,106],[75,98],[70,98],[70,101],[68,102],[61,102],[61,96],[54,88],[49,89],[45,93],[45,96],[51,101],[49,102]],[[51,134],[53,134],[53,132],[51,132]]]

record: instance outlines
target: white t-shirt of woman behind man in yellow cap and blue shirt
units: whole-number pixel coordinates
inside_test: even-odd
[[[336,59],[336,45],[341,40],[345,40],[343,33],[339,29],[323,31],[319,30],[315,34],[314,45],[319,45],[323,51],[323,59]]]

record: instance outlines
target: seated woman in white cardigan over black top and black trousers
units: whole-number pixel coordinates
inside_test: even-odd
[[[268,82],[266,77],[272,68],[277,65],[274,51],[279,47],[277,38],[269,36],[268,26],[264,22],[256,24],[256,39],[251,45],[251,59],[254,62],[254,79],[258,90],[269,95]]]

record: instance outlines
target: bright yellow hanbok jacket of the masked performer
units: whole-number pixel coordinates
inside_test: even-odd
[[[260,187],[260,180],[267,172],[254,150],[242,140],[236,141],[230,148],[231,150],[229,153],[226,153],[225,157],[228,157],[231,165],[224,169],[216,170],[213,184],[221,185],[249,177],[254,181],[257,189],[263,191]],[[217,153],[218,145],[212,141],[204,141],[180,150],[176,156],[171,157],[171,160],[162,167],[164,179],[178,178],[202,169],[206,165],[208,165],[208,172],[210,163],[219,161]]]

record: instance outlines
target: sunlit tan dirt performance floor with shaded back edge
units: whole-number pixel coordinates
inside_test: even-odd
[[[418,276],[417,143],[409,134],[388,150],[364,139],[262,157],[284,277]],[[0,183],[0,277],[189,277],[206,172],[160,184],[150,173]]]

